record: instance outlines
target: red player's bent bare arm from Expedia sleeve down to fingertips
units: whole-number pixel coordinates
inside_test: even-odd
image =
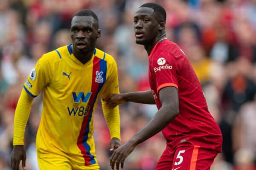
[[[124,166],[126,157],[134,150],[134,148],[154,136],[163,128],[165,128],[179,113],[178,91],[175,87],[165,87],[159,91],[162,107],[157,111],[154,118],[139,132],[137,132],[127,143],[116,149],[111,156],[110,164],[114,169]]]

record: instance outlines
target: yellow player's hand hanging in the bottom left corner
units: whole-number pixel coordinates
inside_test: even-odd
[[[22,161],[22,168],[25,170],[26,151],[23,145],[14,146],[11,154],[12,170],[19,170],[20,161]]]

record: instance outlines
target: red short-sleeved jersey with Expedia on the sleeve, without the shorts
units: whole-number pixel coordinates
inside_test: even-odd
[[[174,42],[163,39],[148,58],[149,83],[157,108],[162,106],[161,88],[173,86],[178,90],[180,113],[162,130],[167,144],[189,142],[221,152],[221,130],[208,111],[201,84],[184,52]]]

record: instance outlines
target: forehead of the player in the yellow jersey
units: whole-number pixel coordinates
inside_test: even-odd
[[[72,27],[81,27],[81,26],[97,26],[96,20],[92,16],[75,16],[71,21]]]

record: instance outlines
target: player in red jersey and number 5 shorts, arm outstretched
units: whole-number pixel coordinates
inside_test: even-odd
[[[222,135],[208,111],[201,84],[180,47],[166,38],[166,11],[145,3],[134,15],[136,43],[148,53],[150,91],[108,95],[109,107],[125,102],[156,104],[154,118],[114,151],[111,167],[123,167],[134,148],[162,130],[166,139],[156,170],[209,170]]]

